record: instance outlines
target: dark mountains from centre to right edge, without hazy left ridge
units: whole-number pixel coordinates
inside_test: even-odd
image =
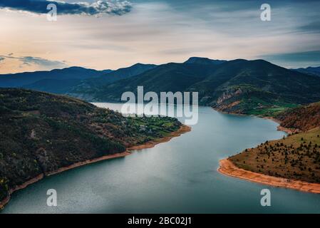
[[[274,65],[267,61],[237,59],[217,64],[167,63],[104,86],[86,90],[90,100],[119,102],[125,91],[197,91],[200,105],[227,113],[269,115],[298,104],[320,100],[320,78]],[[211,63],[210,63],[211,62]],[[78,90],[81,93],[81,90]]]

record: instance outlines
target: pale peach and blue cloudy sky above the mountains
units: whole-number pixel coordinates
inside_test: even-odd
[[[48,21],[48,4],[57,21]],[[271,6],[262,21],[260,6]],[[97,70],[191,56],[320,66],[320,1],[0,0],[0,73]]]

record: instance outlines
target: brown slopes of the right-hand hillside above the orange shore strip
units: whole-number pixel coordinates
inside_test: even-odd
[[[243,170],[320,183],[320,103],[286,110],[276,118],[282,127],[296,133],[246,149],[228,160]]]

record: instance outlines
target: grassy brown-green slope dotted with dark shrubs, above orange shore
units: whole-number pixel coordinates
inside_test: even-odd
[[[320,128],[267,141],[229,157],[237,167],[275,177],[320,182]]]

